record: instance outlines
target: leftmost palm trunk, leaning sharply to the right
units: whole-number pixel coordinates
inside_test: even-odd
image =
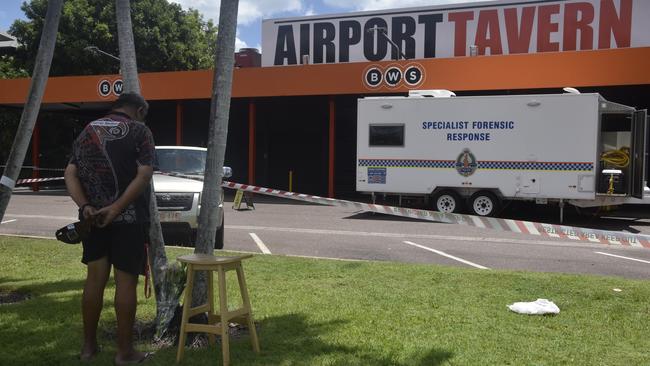
[[[23,114],[20,117],[16,137],[14,138],[14,143],[11,146],[11,152],[7,159],[7,167],[2,174],[2,178],[0,178],[0,221],[4,217],[7,205],[9,205],[14,183],[18,178],[18,174],[20,174],[20,169],[22,168],[25,154],[29,147],[29,140],[34,131],[34,124],[36,123],[38,112],[41,109],[41,101],[43,100],[45,85],[47,84],[50,66],[52,65],[52,55],[54,54],[54,45],[56,44],[56,34],[59,29],[62,5],[63,0],[50,0],[47,4],[45,26],[43,27],[43,34],[38,45],[27,103],[25,103]]]

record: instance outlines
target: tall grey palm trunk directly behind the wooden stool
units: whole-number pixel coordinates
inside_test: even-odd
[[[212,81],[212,101],[210,103],[208,156],[205,163],[205,180],[201,194],[201,213],[199,214],[199,232],[195,253],[211,254],[214,251],[217,225],[220,224],[217,219],[222,214],[219,212],[222,189],[220,183],[223,176],[223,161],[228,137],[238,6],[238,0],[221,1],[214,79]],[[204,303],[205,299],[207,299],[206,278],[198,276],[192,294],[192,303]]]

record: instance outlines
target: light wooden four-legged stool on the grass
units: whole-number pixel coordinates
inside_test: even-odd
[[[251,258],[253,255],[243,255],[238,257],[216,257],[209,254],[190,254],[178,257],[178,261],[187,264],[187,282],[185,286],[185,297],[183,300],[183,317],[181,319],[181,334],[178,340],[178,353],[176,362],[180,362],[185,351],[185,339],[187,333],[202,332],[208,333],[210,344],[215,344],[215,334],[221,334],[221,351],[223,354],[223,364],[230,364],[230,349],[228,342],[228,323],[231,320],[236,322],[245,321],[248,324],[248,330],[253,343],[253,351],[260,352],[260,345],[253,323],[253,312],[251,310],[248,290],[246,289],[246,280],[244,279],[244,270],[242,269],[242,259]],[[226,272],[235,270],[237,280],[239,281],[239,291],[242,297],[242,307],[236,310],[228,310],[228,298],[226,297]],[[194,272],[206,271],[208,282],[208,303],[191,308],[192,306],[192,288],[194,287]],[[214,312],[214,288],[212,283],[212,272],[216,271],[219,281],[219,314]],[[190,317],[208,313],[208,324],[190,323]],[[219,325],[217,325],[219,323]]]

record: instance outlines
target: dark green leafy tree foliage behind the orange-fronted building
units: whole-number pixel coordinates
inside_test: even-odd
[[[16,61],[32,70],[43,29],[47,0],[21,7],[27,20],[16,20],[9,33],[20,46]],[[216,26],[197,10],[167,0],[132,0],[133,35],[140,71],[198,70],[212,67]],[[118,55],[115,0],[66,0],[50,75],[112,74],[119,62],[86,50],[96,46]]]

